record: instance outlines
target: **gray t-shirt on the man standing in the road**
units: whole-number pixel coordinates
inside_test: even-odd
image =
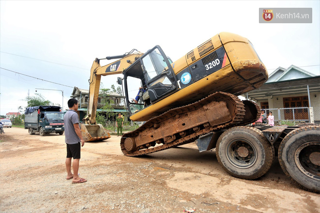
[[[77,144],[80,142],[80,138],[78,137],[75,127],[73,126],[75,123],[79,123],[79,116],[75,110],[69,109],[64,115],[64,136],[65,143],[67,144]]]

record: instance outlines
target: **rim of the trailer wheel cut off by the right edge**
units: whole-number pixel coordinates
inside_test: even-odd
[[[308,142],[301,145],[294,154],[297,167],[306,176],[320,180],[320,143]]]

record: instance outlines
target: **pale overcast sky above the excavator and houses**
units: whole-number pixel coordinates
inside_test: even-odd
[[[277,7],[312,8],[313,22],[259,23],[259,8]],[[269,75],[291,64],[320,75],[319,22],[319,0],[1,0],[0,115],[25,108],[24,99],[28,91],[33,96],[35,88],[50,89],[37,93],[61,106],[64,100],[67,108],[74,87],[89,89],[95,58],[121,55],[133,48],[146,52],[160,45],[175,61],[223,31],[248,38]],[[110,62],[103,60],[101,65]],[[122,75],[102,76],[103,87],[117,87],[118,76]]]

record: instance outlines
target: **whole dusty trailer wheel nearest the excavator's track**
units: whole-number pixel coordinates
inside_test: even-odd
[[[226,172],[237,178],[253,180],[271,167],[274,148],[260,130],[237,126],[219,137],[216,155]]]

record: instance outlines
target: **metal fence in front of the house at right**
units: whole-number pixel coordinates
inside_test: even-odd
[[[269,112],[272,112],[274,123],[276,124],[295,125],[301,122],[320,122],[318,116],[314,117],[313,107],[271,108],[264,110],[267,116],[269,115]],[[317,108],[315,111],[318,113]]]

